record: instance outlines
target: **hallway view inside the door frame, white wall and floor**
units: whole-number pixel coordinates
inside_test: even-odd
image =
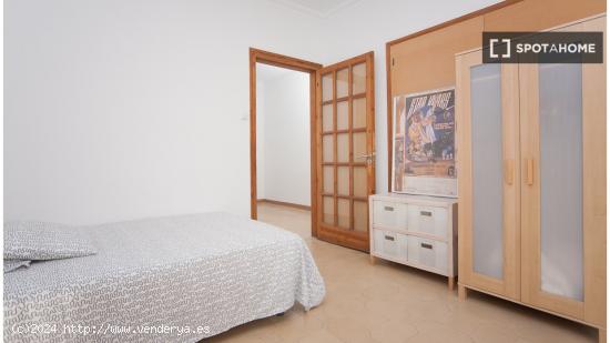
[[[309,74],[256,63],[256,212],[311,232]]]

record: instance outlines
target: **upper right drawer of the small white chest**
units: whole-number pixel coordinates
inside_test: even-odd
[[[409,204],[407,212],[409,231],[439,238],[447,236],[447,209]]]

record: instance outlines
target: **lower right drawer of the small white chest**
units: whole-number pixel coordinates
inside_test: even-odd
[[[447,270],[447,243],[408,236],[408,262],[430,268],[448,275]]]

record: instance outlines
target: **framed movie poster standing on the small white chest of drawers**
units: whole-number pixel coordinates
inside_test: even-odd
[[[392,190],[457,198],[455,88],[394,98]]]

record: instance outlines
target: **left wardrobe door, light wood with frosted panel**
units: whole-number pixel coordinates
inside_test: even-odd
[[[518,67],[456,57],[459,282],[519,299]]]

